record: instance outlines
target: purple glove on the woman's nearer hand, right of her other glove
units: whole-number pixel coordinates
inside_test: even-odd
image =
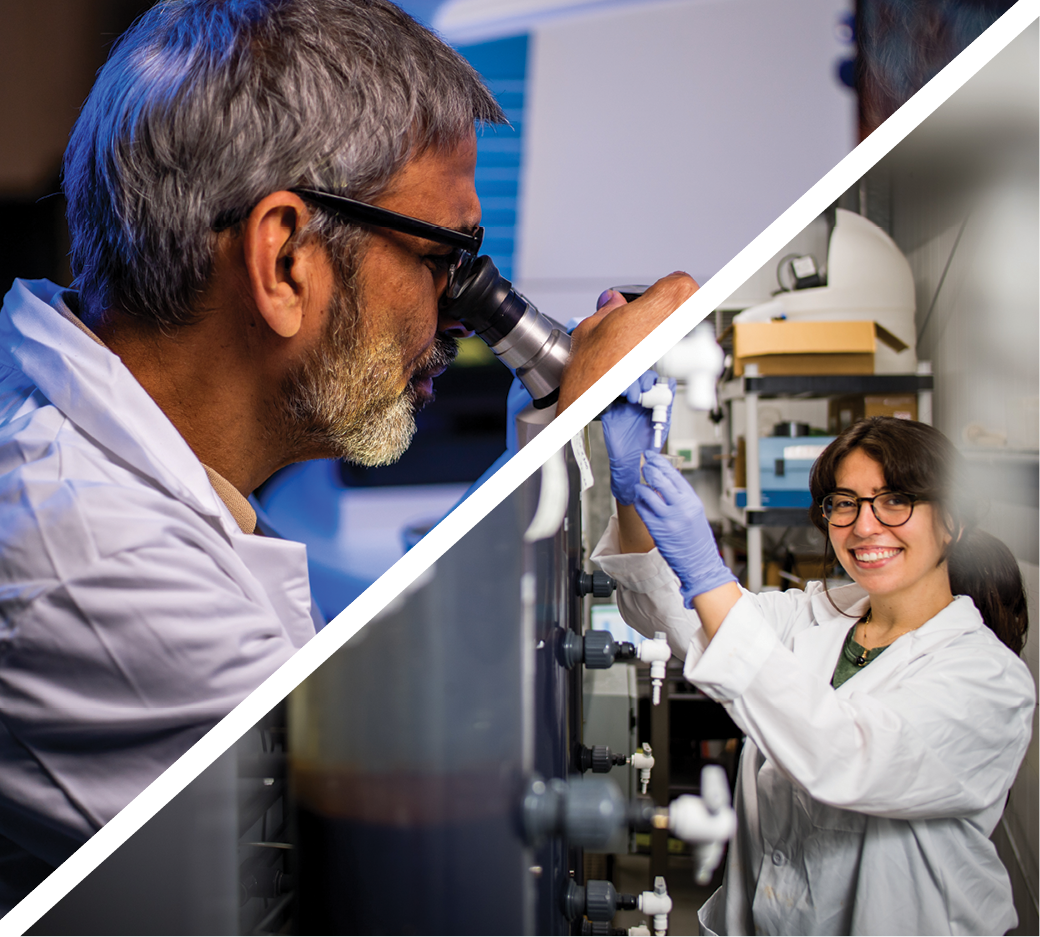
[[[704,504],[672,464],[648,451],[643,477],[646,485],[635,491],[635,511],[679,577],[683,604],[693,608],[695,596],[735,582],[736,576],[719,555]]]

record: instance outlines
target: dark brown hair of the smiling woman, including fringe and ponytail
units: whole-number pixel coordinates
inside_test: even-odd
[[[841,461],[856,449],[881,465],[889,488],[916,495],[939,509],[954,535],[939,561],[947,563],[951,591],[969,596],[993,633],[1020,653],[1029,616],[1018,564],[999,540],[979,529],[978,509],[965,485],[961,454],[927,423],[888,416],[860,420],[842,431],[815,461],[809,473],[809,519],[824,533],[828,563],[834,561],[834,554],[820,503],[837,487]]]

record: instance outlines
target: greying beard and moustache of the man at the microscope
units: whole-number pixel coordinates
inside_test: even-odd
[[[418,383],[446,368],[459,345],[438,333],[398,391],[407,336],[367,335],[360,305],[341,280],[321,342],[286,380],[286,424],[296,451],[389,465],[411,444],[415,414],[434,398]]]

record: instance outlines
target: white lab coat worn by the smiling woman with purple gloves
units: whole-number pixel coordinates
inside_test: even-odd
[[[630,625],[668,633],[683,674],[747,733],[738,829],[706,934],[1003,934],[1017,918],[988,839],[1030,739],[1029,670],[966,596],[837,689],[858,585],[745,593],[707,644],[652,550],[592,557]]]

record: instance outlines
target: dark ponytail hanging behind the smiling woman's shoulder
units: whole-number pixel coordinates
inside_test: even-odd
[[[1029,615],[1022,576],[1011,550],[983,530],[966,530],[951,545],[946,569],[950,591],[969,596],[993,633],[1020,654]]]

